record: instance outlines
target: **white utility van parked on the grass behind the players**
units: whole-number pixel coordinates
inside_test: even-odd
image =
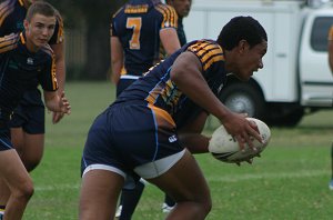
[[[264,68],[250,83],[230,77],[221,100],[271,126],[295,126],[306,112],[332,108],[333,77],[327,33],[330,3],[300,0],[193,0],[184,18],[188,41],[216,39],[233,17],[251,16],[268,32]]]

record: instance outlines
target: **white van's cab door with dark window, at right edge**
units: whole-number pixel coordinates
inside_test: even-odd
[[[329,66],[327,34],[333,10],[313,10],[304,23],[300,48],[301,104],[332,107],[333,77]]]

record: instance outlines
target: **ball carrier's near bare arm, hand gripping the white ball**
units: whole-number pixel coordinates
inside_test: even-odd
[[[231,112],[213,94],[201,71],[201,62],[196,56],[192,52],[184,52],[175,60],[171,70],[171,79],[191,100],[215,116],[228,132],[235,137],[241,149],[244,149],[245,143],[253,147],[250,137],[262,141],[253,124],[244,116]]]

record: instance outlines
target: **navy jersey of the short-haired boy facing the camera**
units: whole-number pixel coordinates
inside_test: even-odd
[[[0,38],[0,110],[10,113],[27,89],[41,84],[56,91],[54,56],[50,46],[32,53],[27,49],[24,33]]]

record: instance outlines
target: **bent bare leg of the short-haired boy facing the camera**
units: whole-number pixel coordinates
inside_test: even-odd
[[[21,219],[33,193],[32,180],[14,149],[0,151],[0,179],[8,186],[4,219]]]

